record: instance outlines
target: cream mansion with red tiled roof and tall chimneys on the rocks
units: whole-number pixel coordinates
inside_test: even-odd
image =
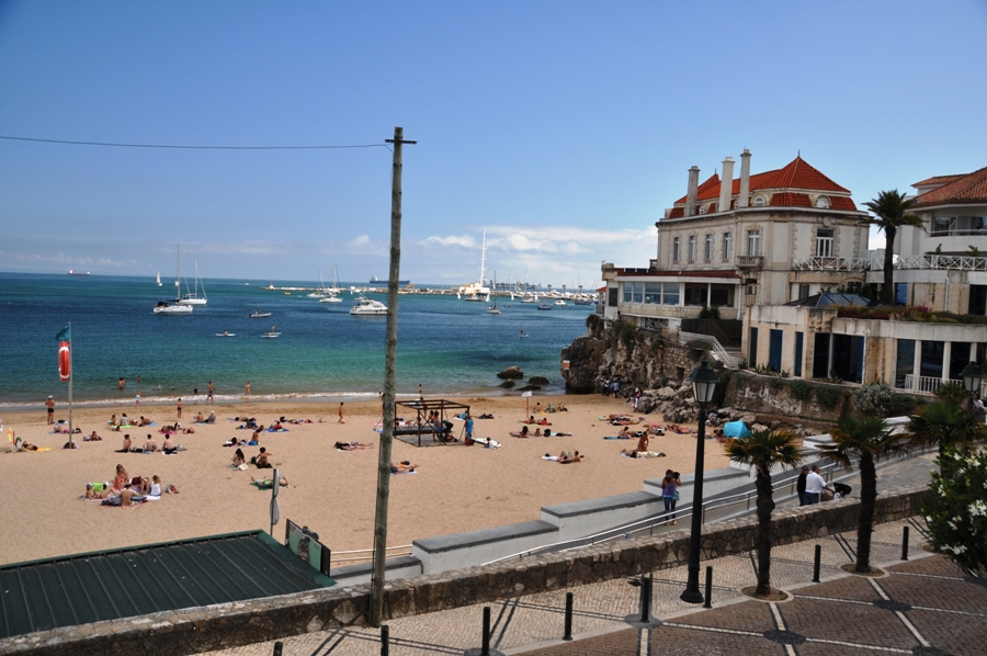
[[[606,318],[688,330],[704,306],[716,306],[737,323],[745,354],[767,354],[776,344],[759,350],[768,337],[749,330],[751,307],[864,281],[867,215],[850,190],[802,157],[751,174],[750,157],[741,154],[737,179],[729,157],[722,179],[700,183],[699,168],[689,170],[688,193],[655,224],[657,257],[648,268],[603,264]]]

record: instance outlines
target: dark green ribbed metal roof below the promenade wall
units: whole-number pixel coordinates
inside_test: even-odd
[[[334,585],[263,531],[0,566],[0,637]]]

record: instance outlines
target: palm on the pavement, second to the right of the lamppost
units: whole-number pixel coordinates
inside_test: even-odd
[[[893,433],[884,417],[855,417],[847,415],[832,427],[831,444],[819,449],[830,460],[850,465],[856,457],[860,466],[860,520],[856,524],[856,567],[866,574],[871,570],[871,533],[874,530],[874,508],[877,501],[877,472],[874,463],[882,457],[908,450],[910,443],[904,433]]]

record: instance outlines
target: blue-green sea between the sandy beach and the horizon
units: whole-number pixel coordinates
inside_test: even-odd
[[[68,400],[56,336],[69,325],[77,406],[131,401],[137,392],[141,405],[195,403],[209,381],[217,403],[241,399],[248,382],[257,400],[355,400],[383,392],[386,317],[350,315],[355,294],[330,304],[308,292],[261,289],[316,287],[314,281],[203,284],[207,305],[169,316],[152,307],[174,297],[173,279],[158,286],[150,276],[0,272],[0,410],[39,408],[48,395]],[[351,284],[366,286],[340,286]],[[368,297],[386,304],[385,291]],[[417,396],[419,385],[430,397],[506,394],[497,373],[512,364],[525,378],[549,380],[536,394],[563,393],[559,352],[586,332],[592,306],[538,310],[520,298],[496,302],[503,314],[455,295],[400,295],[398,397]],[[249,318],[254,309],[271,317]],[[264,337],[272,326],[276,339]]]

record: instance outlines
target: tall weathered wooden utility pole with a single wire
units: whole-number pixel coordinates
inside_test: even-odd
[[[384,354],[384,431],[377,461],[377,510],[374,514],[374,579],[371,593],[371,625],[384,619],[384,565],[387,559],[387,498],[390,494],[390,448],[394,441],[394,373],[397,360],[397,297],[401,269],[401,146],[417,144],[404,139],[405,128],[395,127],[394,169],[390,179],[390,275],[387,279],[387,337]]]

